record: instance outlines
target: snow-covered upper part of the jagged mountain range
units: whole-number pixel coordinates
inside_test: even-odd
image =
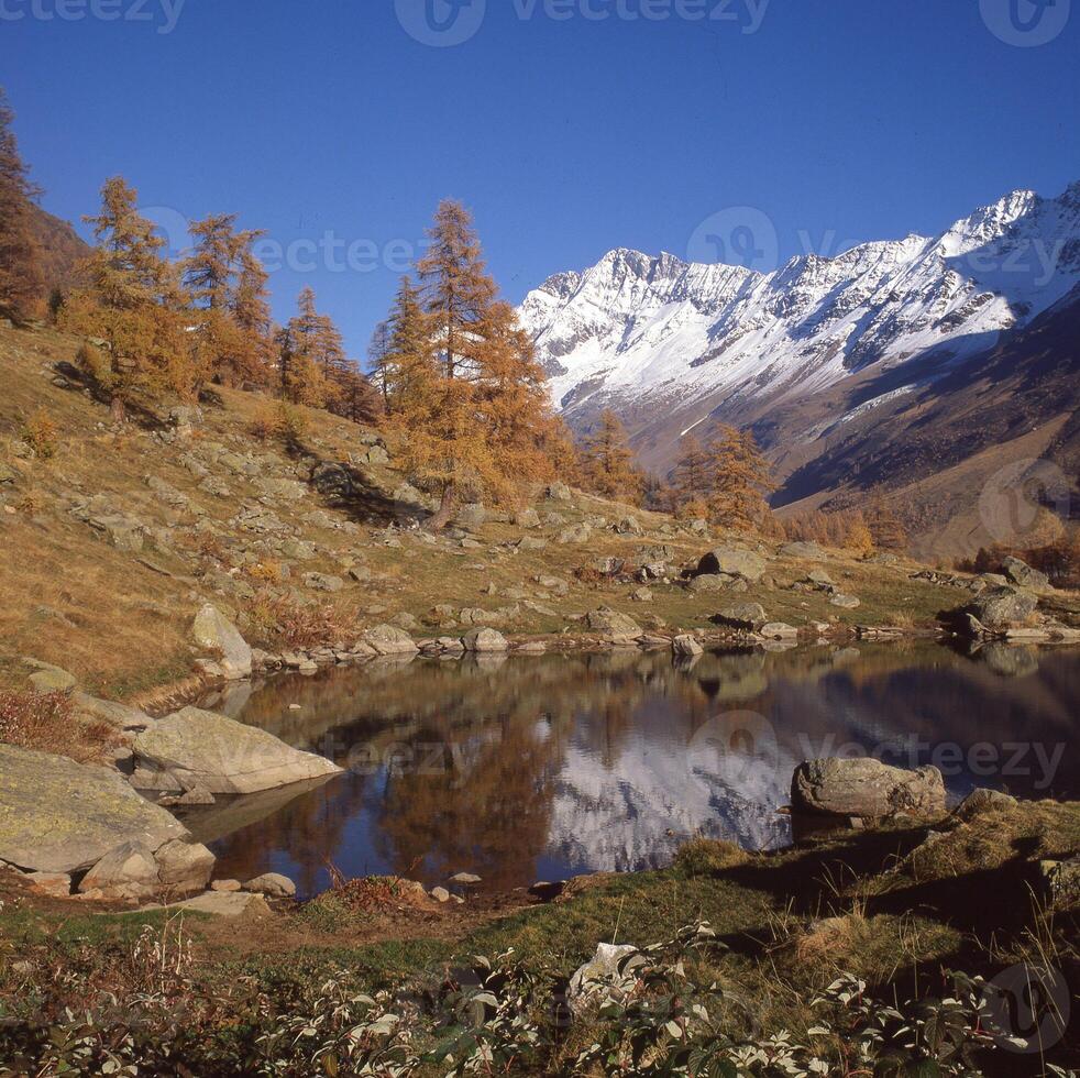
[[[633,417],[672,413],[677,438],[871,366],[972,355],[1078,282],[1080,183],[1057,199],[1014,191],[936,239],[805,255],[770,274],[618,249],[549,278],[519,316],[572,424],[609,406],[633,431]]]

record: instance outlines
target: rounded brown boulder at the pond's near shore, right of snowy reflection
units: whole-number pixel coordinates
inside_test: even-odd
[[[869,757],[808,760],[792,777],[791,802],[796,812],[826,816],[926,816],[945,812],[945,783],[934,767],[905,771]]]

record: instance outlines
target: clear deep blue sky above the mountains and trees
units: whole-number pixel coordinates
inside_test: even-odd
[[[43,205],[78,221],[122,173],[145,207],[235,211],[283,251],[329,233],[337,253],[295,248],[316,268],[273,275],[275,314],[311,284],[355,354],[396,285],[386,244],[419,243],[444,196],[518,301],[613,246],[685,256],[729,207],[765,215],[786,257],[801,232],[936,232],[1080,178],[1080,0],[1029,47],[1002,40],[1010,0],[699,0],[721,16],[704,22],[683,18],[694,0],[486,0],[452,47],[410,36],[395,0],[186,0],[158,33],[176,2],[0,0],[0,84]],[[423,36],[423,0],[397,3]],[[334,272],[357,241],[378,268]]]

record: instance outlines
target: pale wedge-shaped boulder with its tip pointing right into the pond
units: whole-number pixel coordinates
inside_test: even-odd
[[[132,784],[170,793],[256,793],[341,771],[273,734],[197,707],[185,707],[140,734],[132,752]]]

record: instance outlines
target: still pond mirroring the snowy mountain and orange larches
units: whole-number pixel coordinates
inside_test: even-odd
[[[803,759],[877,751],[1027,796],[1080,790],[1080,653],[928,644],[416,660],[234,686],[206,701],[345,774],[219,801],[185,822],[217,875],[348,876],[493,890],[659,867],[687,838],[790,840]],[[299,710],[290,710],[299,705]]]

